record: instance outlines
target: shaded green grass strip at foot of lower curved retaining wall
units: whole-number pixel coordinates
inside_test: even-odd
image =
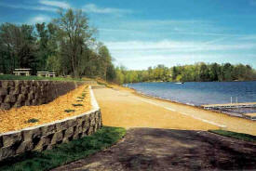
[[[0,163],[1,171],[41,171],[69,164],[101,151],[123,138],[126,130],[120,127],[103,126],[92,136],[57,145],[50,151],[29,152]]]

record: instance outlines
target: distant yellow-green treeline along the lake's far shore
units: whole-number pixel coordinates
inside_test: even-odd
[[[230,63],[218,64],[204,62],[194,65],[168,68],[158,65],[143,71],[127,71],[116,68],[115,81],[119,84],[137,82],[212,82],[212,81],[249,81],[256,80],[256,71],[249,65]]]

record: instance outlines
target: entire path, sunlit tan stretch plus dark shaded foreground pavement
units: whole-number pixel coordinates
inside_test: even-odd
[[[110,149],[57,171],[256,169],[255,143],[205,131],[223,128],[256,135],[252,121],[143,98],[131,91],[101,88],[94,92],[103,125],[127,127],[128,134]]]

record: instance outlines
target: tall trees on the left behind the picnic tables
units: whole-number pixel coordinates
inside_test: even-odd
[[[57,72],[73,77],[113,80],[115,67],[107,46],[95,38],[82,10],[60,10],[59,18],[34,25],[0,25],[0,72],[17,68]]]

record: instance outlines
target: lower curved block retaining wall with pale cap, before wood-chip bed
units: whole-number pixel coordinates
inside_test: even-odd
[[[25,151],[45,151],[56,144],[91,135],[101,128],[101,110],[90,89],[92,110],[47,125],[0,134],[0,161]]]

